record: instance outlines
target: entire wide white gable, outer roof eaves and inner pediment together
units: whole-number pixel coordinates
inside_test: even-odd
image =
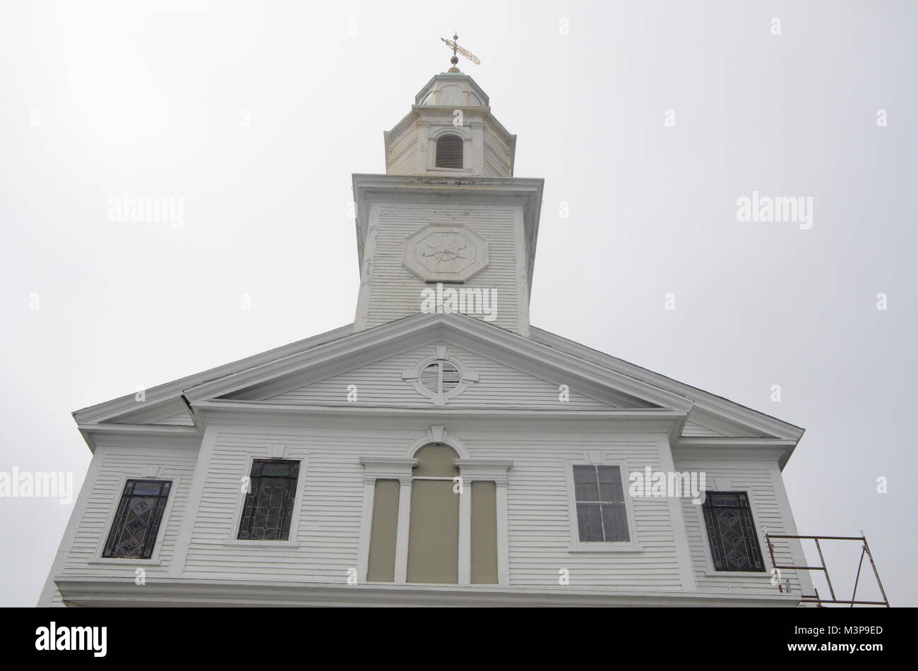
[[[685,419],[680,443],[778,439],[802,429],[573,341],[532,329],[520,336],[462,314],[416,314],[363,331],[351,326],[280,347],[151,390],[139,405],[124,397],[74,413],[81,426],[192,424],[204,402],[422,408],[420,366],[445,348],[471,373],[447,407],[673,412]],[[352,387],[353,385],[353,387]],[[567,401],[560,395],[566,387]],[[566,404],[565,404],[566,403]],[[737,443],[739,444],[739,443]]]

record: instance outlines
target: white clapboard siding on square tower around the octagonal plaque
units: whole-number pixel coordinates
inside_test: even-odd
[[[375,256],[371,270],[366,326],[372,327],[420,313],[423,290],[436,288],[420,281],[402,265],[405,240],[428,224],[471,228],[488,242],[489,263],[462,284],[465,289],[497,292],[497,318],[491,324],[520,330],[519,277],[515,211],[518,207],[412,203],[380,206]],[[450,286],[450,285],[446,285]],[[454,285],[453,285],[454,288]],[[472,314],[483,318],[481,314]]]

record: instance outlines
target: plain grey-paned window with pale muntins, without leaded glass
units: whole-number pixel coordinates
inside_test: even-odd
[[[574,498],[581,543],[631,540],[619,467],[575,466]]]

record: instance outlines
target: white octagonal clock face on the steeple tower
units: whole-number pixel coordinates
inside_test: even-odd
[[[423,281],[466,281],[487,266],[487,240],[464,225],[426,225],[405,240],[402,260]]]

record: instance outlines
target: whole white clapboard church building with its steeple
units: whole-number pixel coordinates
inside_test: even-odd
[[[74,413],[39,605],[799,605],[803,430],[530,324],[543,180],[471,77],[385,146],[353,324]]]

